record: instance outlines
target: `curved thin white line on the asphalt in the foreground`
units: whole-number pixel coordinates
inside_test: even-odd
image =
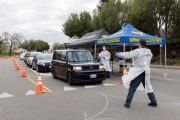
[[[88,119],[87,119],[86,113],[84,113],[84,116],[85,116],[84,120],[107,120],[107,119],[109,120],[109,119],[111,119],[111,118],[93,119],[93,118],[95,118],[96,116],[100,115],[100,114],[101,114],[104,110],[106,110],[107,107],[108,107],[108,98],[107,98],[106,94],[104,94],[104,93],[101,93],[101,94],[104,95],[105,98],[106,98],[106,106],[105,106],[105,108],[104,108],[103,110],[101,110],[98,114],[96,114],[96,115],[94,115],[94,116],[92,116],[92,117],[90,117],[90,118],[88,118]]]

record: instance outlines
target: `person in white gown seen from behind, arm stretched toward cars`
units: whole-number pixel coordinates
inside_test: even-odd
[[[128,75],[122,76],[123,84],[126,88],[129,88],[128,95],[126,97],[126,103],[124,106],[126,108],[130,107],[131,101],[133,99],[136,89],[145,90],[150,103],[149,106],[156,107],[157,100],[153,93],[152,86],[150,84],[150,61],[152,58],[152,53],[150,49],[147,49],[146,41],[141,39],[139,41],[139,48],[130,52],[116,52],[117,57],[131,58],[133,61],[133,66],[129,69]]]

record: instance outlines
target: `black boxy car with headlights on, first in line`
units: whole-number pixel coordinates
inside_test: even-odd
[[[54,79],[65,79],[69,85],[106,79],[104,66],[94,61],[89,50],[54,51],[51,70]]]

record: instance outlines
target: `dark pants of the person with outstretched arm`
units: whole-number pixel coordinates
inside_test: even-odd
[[[139,76],[137,76],[134,80],[131,81],[129,92],[126,97],[126,104],[128,105],[131,104],[134,93],[136,92],[136,89],[140,85],[141,82],[145,88],[145,72],[141,73]],[[147,93],[147,95],[151,102],[155,102],[155,103],[157,102],[153,92]]]

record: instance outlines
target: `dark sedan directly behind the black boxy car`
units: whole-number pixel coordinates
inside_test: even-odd
[[[51,71],[53,54],[37,53],[32,61],[32,69],[37,72]]]

